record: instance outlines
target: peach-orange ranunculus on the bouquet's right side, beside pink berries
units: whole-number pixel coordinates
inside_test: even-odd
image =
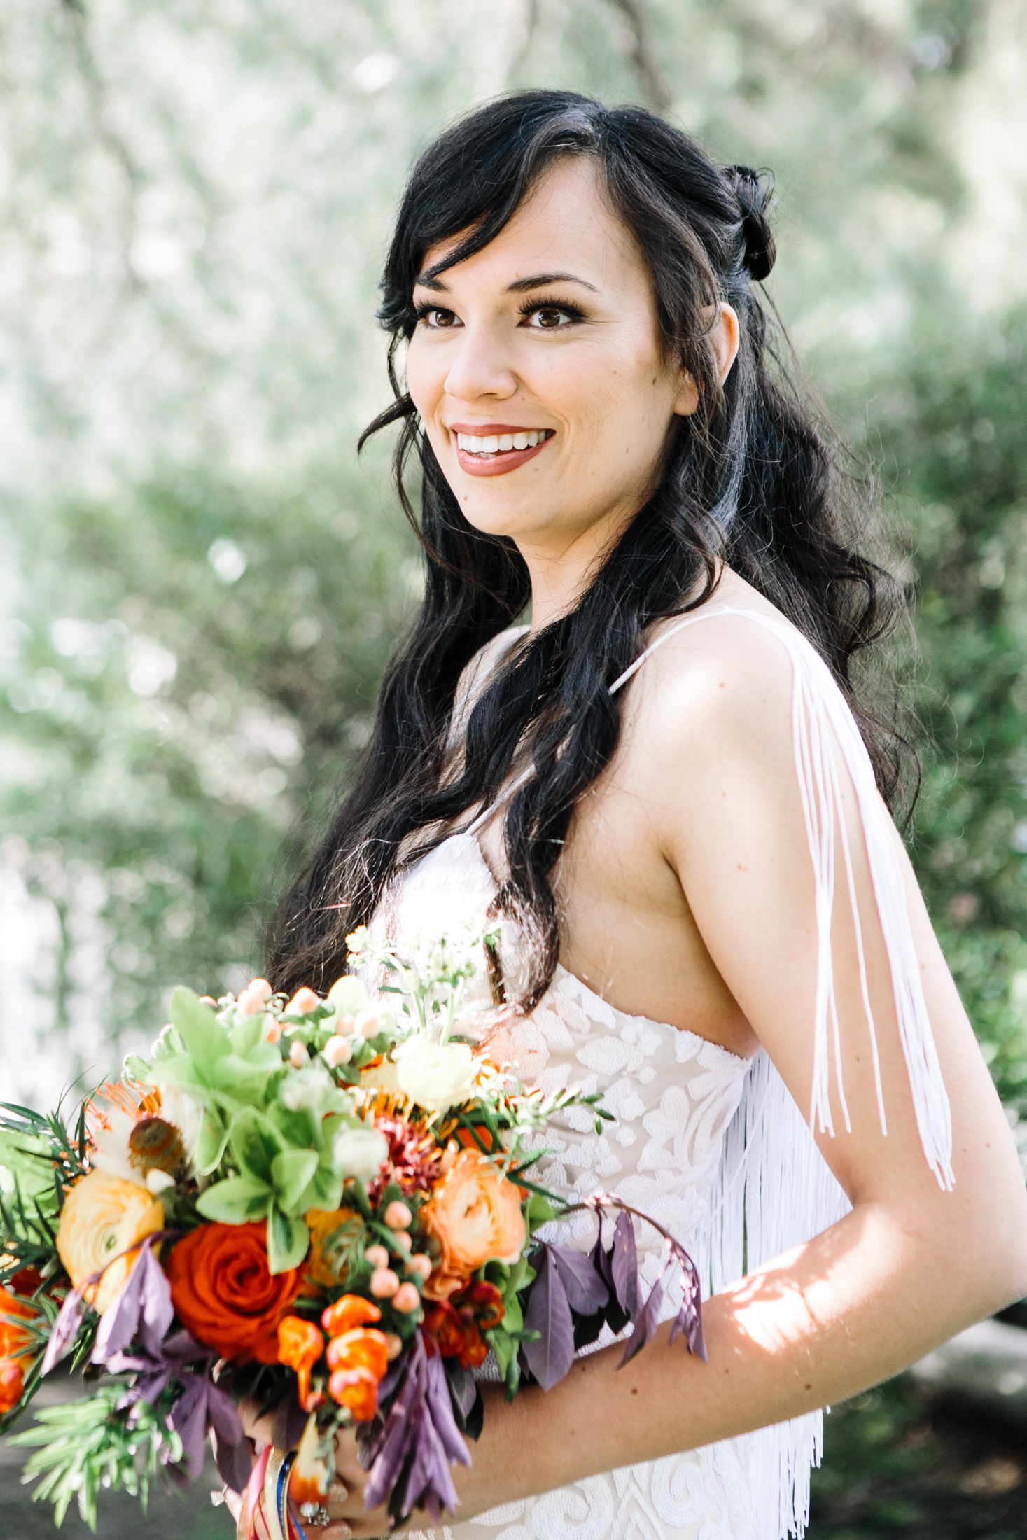
[[[520,1194],[477,1150],[460,1150],[420,1210],[420,1223],[442,1250],[425,1284],[430,1300],[456,1294],[454,1280],[467,1283],[482,1263],[516,1261],[528,1238]]]

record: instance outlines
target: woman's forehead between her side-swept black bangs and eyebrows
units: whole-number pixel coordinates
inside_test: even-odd
[[[443,262],[468,234],[465,229],[431,246],[422,273]],[[611,208],[594,162],[584,156],[548,166],[496,239],[440,273],[437,283],[447,290],[468,282],[505,288],[542,273],[574,274],[600,291],[648,288],[634,237]]]

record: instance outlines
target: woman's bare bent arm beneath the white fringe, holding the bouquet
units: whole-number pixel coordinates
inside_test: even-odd
[[[664,858],[716,967],[805,1110],[816,919],[790,665],[784,653],[779,661],[765,647],[756,654],[738,628],[710,622],[662,667],[653,685],[659,711],[648,721],[662,724],[650,752],[667,787]],[[579,1360],[548,1394],[527,1391],[511,1406],[493,1395],[474,1468],[457,1472],[462,1518],[848,1397],[1027,1289],[1027,1195],[1013,1141],[896,835],[953,1112],[953,1192],[941,1190],[924,1160],[845,781],[842,792],[888,1118],[885,1140],[855,932],[839,889],[835,978],[853,1127],[844,1130],[835,1098],[836,1138],[818,1143],[853,1212],[708,1301],[708,1364],[681,1343],[671,1348],[664,1327],[624,1371],[614,1348]],[[353,1468],[348,1477],[359,1481]],[[359,1503],[345,1511],[354,1534],[379,1532],[376,1520],[357,1518]]]

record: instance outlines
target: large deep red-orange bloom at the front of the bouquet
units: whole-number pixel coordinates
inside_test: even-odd
[[[277,1326],[300,1269],[268,1269],[266,1224],[200,1224],[176,1243],[168,1281],[179,1320],[222,1358],[279,1361]]]

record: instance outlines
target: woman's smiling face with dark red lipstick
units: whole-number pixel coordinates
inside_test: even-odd
[[[425,271],[456,245],[428,251]],[[661,357],[648,270],[591,162],[556,162],[414,303],[410,394],[470,524],[528,559],[614,541],[696,388]]]

